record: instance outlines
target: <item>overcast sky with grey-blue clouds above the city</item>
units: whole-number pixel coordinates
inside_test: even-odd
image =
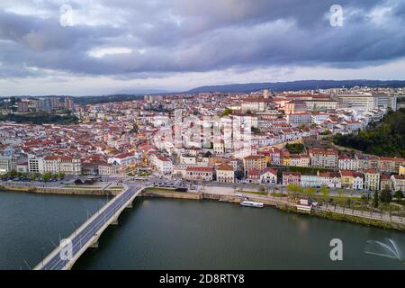
[[[0,95],[405,79],[403,27],[403,0],[1,0]]]

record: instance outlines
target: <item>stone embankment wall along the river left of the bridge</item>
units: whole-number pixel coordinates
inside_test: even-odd
[[[30,187],[17,185],[0,185],[0,190],[22,192],[22,193],[43,193],[43,194],[65,194],[65,195],[116,195],[121,191],[117,190],[102,190],[102,189],[80,189],[77,188],[61,188],[61,187]]]

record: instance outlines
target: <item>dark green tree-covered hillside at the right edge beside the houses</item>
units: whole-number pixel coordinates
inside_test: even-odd
[[[405,157],[405,109],[389,112],[383,121],[358,134],[335,135],[334,143],[385,157]]]

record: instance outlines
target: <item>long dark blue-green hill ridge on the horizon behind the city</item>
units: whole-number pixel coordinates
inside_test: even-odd
[[[307,90],[307,89],[328,89],[354,86],[369,86],[369,87],[405,87],[405,81],[390,80],[302,80],[293,82],[274,82],[274,83],[248,83],[248,84],[231,84],[231,85],[211,85],[201,86],[187,91],[187,93],[202,93],[202,92],[223,92],[223,93],[249,93],[263,89],[271,89],[273,91],[285,90]]]

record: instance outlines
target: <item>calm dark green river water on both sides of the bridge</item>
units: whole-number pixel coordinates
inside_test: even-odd
[[[50,240],[57,244],[105,201],[0,192],[0,269],[35,266],[42,247],[49,253]],[[273,208],[139,198],[119,221],[74,269],[405,269],[403,232]],[[343,261],[330,260],[333,238],[343,241]]]

